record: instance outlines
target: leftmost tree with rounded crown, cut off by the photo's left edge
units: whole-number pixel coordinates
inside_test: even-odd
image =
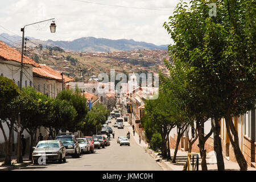
[[[15,124],[14,119],[9,119],[7,115],[7,105],[18,96],[19,88],[13,80],[9,78],[0,76],[0,128],[2,130],[3,137],[5,138],[5,164],[11,164],[11,146],[12,146],[12,136],[13,136],[13,127]],[[8,122],[9,119],[9,122]],[[6,131],[3,129],[3,123],[6,123],[9,129],[9,137],[7,136]]]

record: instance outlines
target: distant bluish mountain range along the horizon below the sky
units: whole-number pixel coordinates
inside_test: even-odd
[[[13,46],[17,46],[17,44],[21,45],[22,37],[17,35],[9,35],[9,34],[0,34],[0,40],[3,42],[12,44]],[[5,38],[11,40],[7,40]],[[85,51],[85,52],[112,52],[112,51],[131,51],[133,49],[168,49],[168,45],[156,46],[152,43],[146,42],[137,42],[133,39],[104,39],[104,38],[94,38],[92,36],[75,39],[72,41],[53,41],[53,40],[39,40],[31,37],[27,37],[31,42],[27,42],[27,46],[35,47],[36,44],[42,44],[43,47],[46,46],[59,46],[64,50],[73,50],[73,51]],[[13,42],[17,43],[14,44]]]

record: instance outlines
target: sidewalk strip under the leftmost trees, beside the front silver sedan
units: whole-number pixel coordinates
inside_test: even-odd
[[[11,156],[11,163],[13,164],[11,166],[3,166],[3,164],[5,162],[5,158],[0,158],[0,171],[10,171],[10,170],[18,169],[21,167],[26,167],[33,163],[32,160],[30,160],[28,158],[29,158],[29,156],[25,155],[25,156],[23,156],[23,163],[17,163],[16,156]]]

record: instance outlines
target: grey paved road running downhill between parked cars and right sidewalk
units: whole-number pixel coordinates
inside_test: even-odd
[[[109,126],[112,126],[109,123]],[[125,129],[113,128],[115,131],[115,138],[111,138],[110,146],[94,150],[94,154],[81,155],[79,159],[67,157],[67,163],[57,164],[52,162],[47,165],[34,165],[17,169],[20,170],[47,170],[47,171],[162,171],[163,169],[155,162],[144,148],[138,146],[133,137],[130,139],[130,146],[119,146],[117,143],[118,136],[126,136],[127,126]]]

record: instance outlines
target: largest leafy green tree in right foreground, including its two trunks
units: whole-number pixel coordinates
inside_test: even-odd
[[[205,97],[204,106],[213,118],[218,170],[224,170],[218,122],[225,117],[228,133],[230,126],[236,135],[230,116],[255,106],[255,23],[251,16],[255,14],[255,3],[214,1],[217,16],[210,17],[211,2],[191,1],[189,9],[186,3],[179,3],[164,27],[175,41],[169,50],[190,68],[189,87],[197,96]],[[236,136],[232,145],[240,168],[246,170]]]

